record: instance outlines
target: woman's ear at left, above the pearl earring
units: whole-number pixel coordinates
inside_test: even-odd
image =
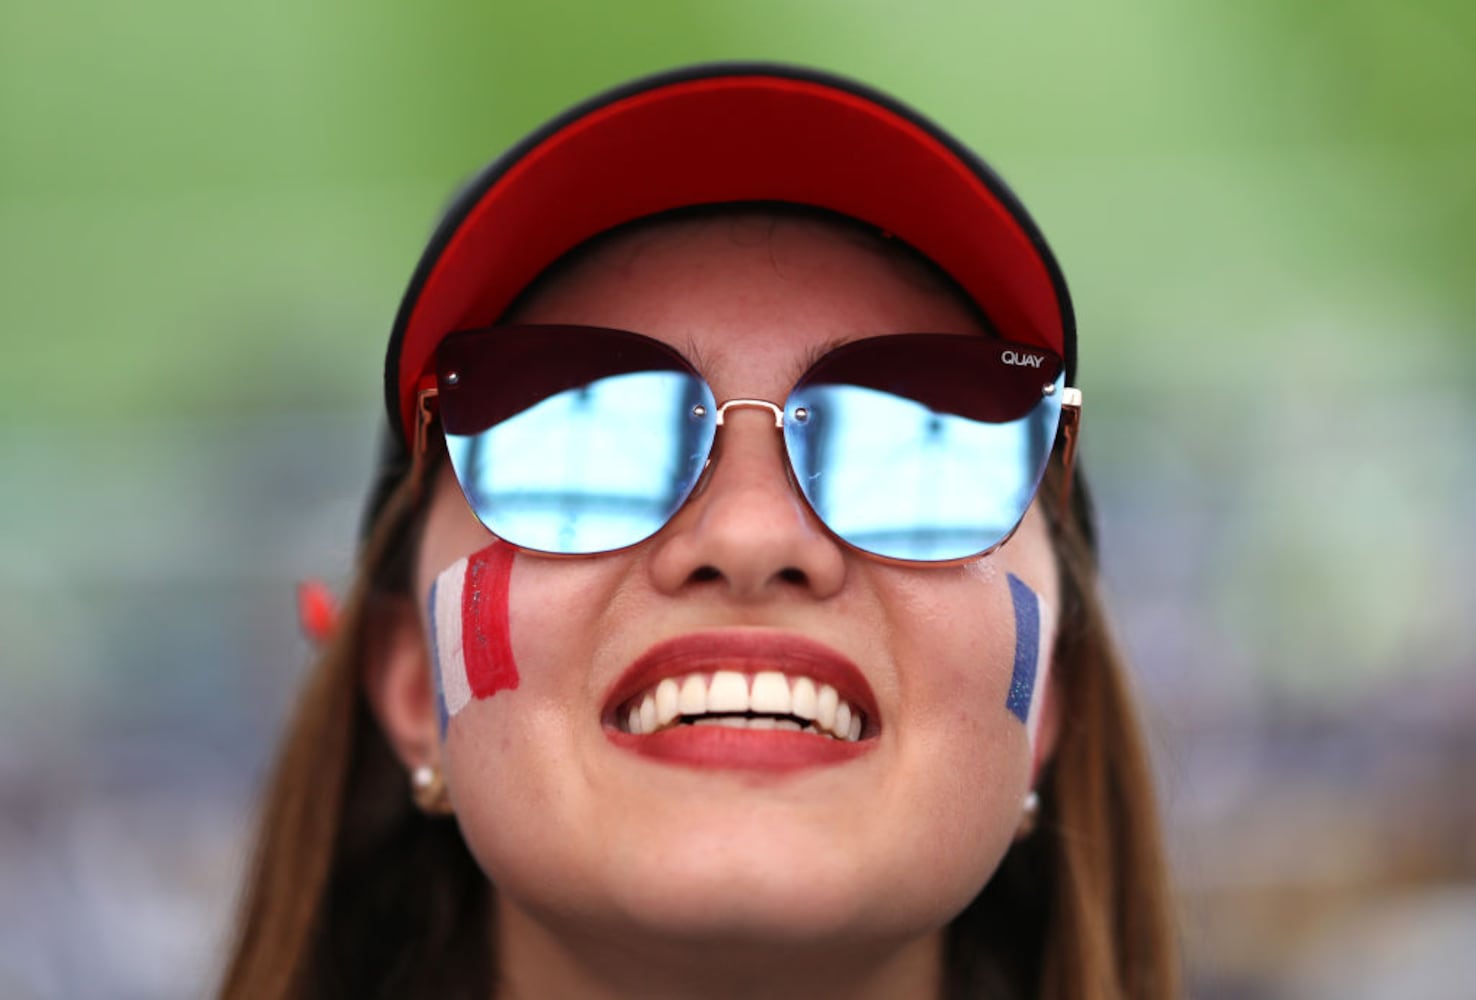
[[[378,597],[365,628],[365,696],[406,770],[440,757],[435,686],[425,631],[409,597]]]

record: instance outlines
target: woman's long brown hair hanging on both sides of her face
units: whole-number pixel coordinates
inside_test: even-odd
[[[492,885],[455,823],[410,804],[362,684],[376,614],[410,599],[424,481],[401,475],[385,491],[335,637],[288,726],[226,1000],[493,994]],[[1060,484],[1052,463],[1042,497]],[[951,925],[951,999],[1178,996],[1153,780],[1098,594],[1082,485],[1072,512],[1051,518],[1063,605],[1052,670],[1064,711],[1041,823]]]

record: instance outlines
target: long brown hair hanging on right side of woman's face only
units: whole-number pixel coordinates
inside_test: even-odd
[[[1057,453],[1060,454],[1060,451]],[[1041,487],[1064,484],[1052,462]],[[1051,513],[1061,624],[1051,661],[1061,698],[1041,822],[949,929],[951,997],[1168,1000],[1178,941],[1153,771],[1097,572],[1086,484]]]

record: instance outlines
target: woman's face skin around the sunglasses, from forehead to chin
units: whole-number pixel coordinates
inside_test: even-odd
[[[682,351],[717,400],[781,404],[841,342],[982,333],[952,292],[880,239],[748,215],[607,240],[517,319],[638,330]],[[518,684],[469,701],[440,751],[465,841],[499,903],[543,926],[692,942],[924,937],[995,870],[1046,749],[1049,705],[1027,714],[1046,717],[1033,737],[1010,706],[1010,577],[1058,606],[1045,522],[1032,507],[1010,543],[967,565],[886,565],[809,513],[770,414],[732,410],[720,435],[706,488],[648,541],[515,556]],[[443,472],[416,568],[422,609],[440,572],[492,541]],[[722,668],[745,683],[779,673],[793,687],[810,670],[796,652],[813,653],[809,642],[855,667],[852,693],[875,718],[846,752],[794,755],[794,740],[830,737],[735,730],[675,755],[642,752],[611,699],[644,653],[694,636],[667,646],[679,652],[642,684]],[[1041,681],[1036,701],[1048,698]]]

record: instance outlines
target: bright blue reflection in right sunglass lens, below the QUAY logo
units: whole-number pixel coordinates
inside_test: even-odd
[[[801,385],[785,445],[815,513],[850,544],[893,559],[959,559],[998,544],[1024,516],[1060,420],[1057,392],[990,422],[937,413],[858,385]],[[807,419],[796,420],[796,409]]]

